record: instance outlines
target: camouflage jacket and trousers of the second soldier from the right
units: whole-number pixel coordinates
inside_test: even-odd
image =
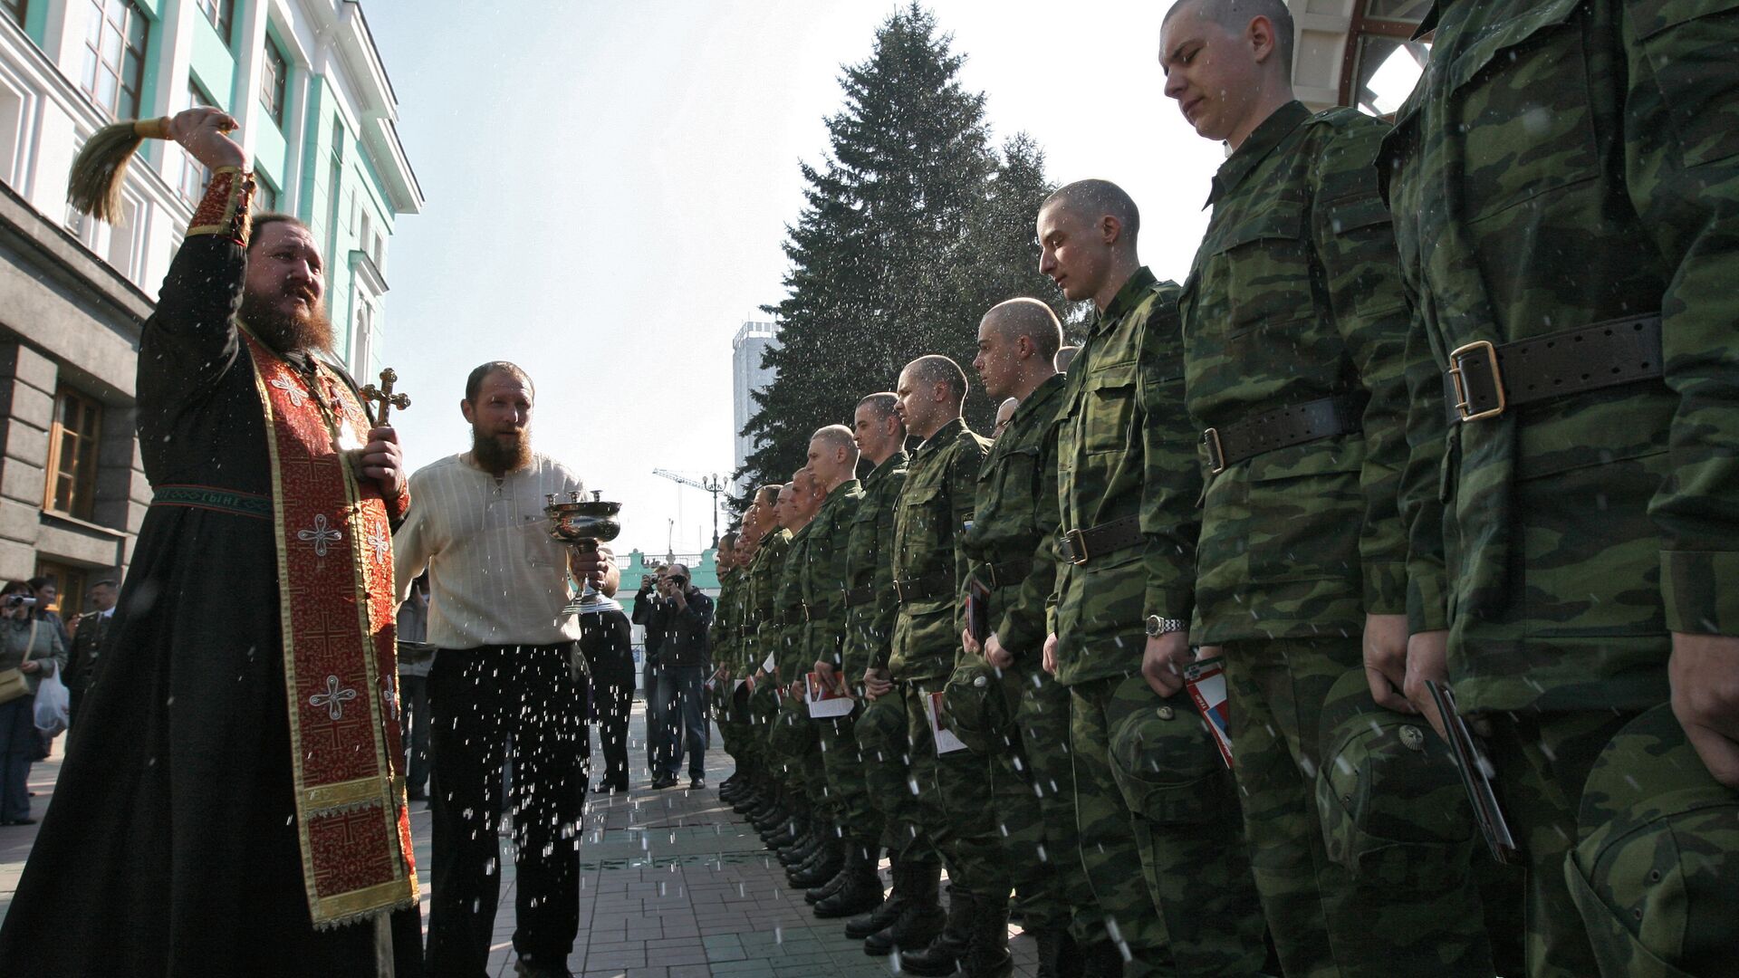
[[[1287,103],[1214,178],[1179,298],[1189,416],[1210,430],[1193,639],[1226,651],[1252,868],[1287,975],[1492,975],[1471,841],[1409,847],[1412,872],[1461,881],[1447,893],[1334,863],[1313,783],[1365,614],[1405,611],[1407,305],[1372,165],[1383,132]],[[1273,433],[1313,411],[1339,421]],[[1290,444],[1223,463],[1240,440]],[[1402,931],[1421,940],[1389,940]]]

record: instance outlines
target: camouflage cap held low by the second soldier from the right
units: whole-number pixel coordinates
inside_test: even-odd
[[[1423,717],[1377,707],[1363,668],[1329,687],[1318,738],[1316,806],[1330,860],[1410,884],[1410,867],[1423,863],[1400,847],[1473,839],[1449,745]]]

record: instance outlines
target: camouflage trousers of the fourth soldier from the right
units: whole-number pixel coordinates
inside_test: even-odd
[[[1012,750],[991,764],[991,795],[1005,813],[1009,860],[1028,882],[1016,886],[1016,903],[1029,929],[1071,928],[1083,940],[1103,936],[1094,914],[1092,889],[1082,872],[1080,841],[1075,834],[1075,785],[1069,762],[1069,691],[1038,661],[1016,663],[1003,680],[1017,691]],[[1036,804],[1035,804],[1036,802]]]

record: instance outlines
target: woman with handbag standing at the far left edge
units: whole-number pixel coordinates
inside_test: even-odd
[[[31,618],[24,581],[0,588],[0,825],[35,825],[30,764],[37,752],[37,684],[66,667],[59,632]]]

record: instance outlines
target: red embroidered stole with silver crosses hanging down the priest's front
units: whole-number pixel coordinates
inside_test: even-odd
[[[303,886],[316,928],[417,900],[398,741],[393,538],[341,449],[369,416],[325,365],[308,376],[243,331],[266,412]],[[396,505],[405,505],[400,498]]]

